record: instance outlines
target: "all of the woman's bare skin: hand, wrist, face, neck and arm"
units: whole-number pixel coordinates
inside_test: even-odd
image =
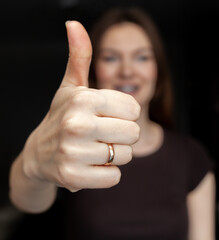
[[[96,65],[98,85],[104,89],[94,90],[87,83],[92,54],[89,37],[78,22],[66,25],[70,57],[65,76],[48,114],[11,168],[11,200],[28,212],[47,210],[57,186],[72,192],[114,186],[121,174],[116,165],[131,160],[131,146],[133,154],[141,156],[163,143],[162,127],[148,117],[157,65],[147,34],[130,23],[106,31]],[[106,61],[112,57],[116,60]],[[115,91],[121,89],[125,93]],[[135,91],[127,94],[127,89]],[[108,159],[106,143],[114,143],[112,166],[103,165]],[[212,173],[189,194],[190,240],[214,239],[214,194]]]

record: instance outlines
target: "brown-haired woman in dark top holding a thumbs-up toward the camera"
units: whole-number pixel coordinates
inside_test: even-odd
[[[57,185],[75,192],[62,194],[67,239],[214,239],[211,163],[198,143],[169,130],[170,79],[152,21],[140,10],[99,21],[91,79],[102,90],[81,86],[91,47],[81,26],[70,25],[66,74],[12,166],[12,201],[40,212]],[[117,186],[89,189],[117,184],[116,165],[124,165]]]

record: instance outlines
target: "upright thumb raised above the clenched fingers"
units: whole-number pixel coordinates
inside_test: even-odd
[[[90,38],[82,24],[77,21],[67,21],[66,29],[69,59],[61,87],[70,85],[88,87],[88,74],[92,56]]]

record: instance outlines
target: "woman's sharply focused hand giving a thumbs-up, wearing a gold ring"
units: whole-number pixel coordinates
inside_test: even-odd
[[[132,158],[138,140],[140,106],[127,94],[88,88],[91,42],[83,26],[67,22],[69,60],[62,83],[41,124],[23,150],[28,178],[70,191],[107,188],[120,180],[116,165]],[[113,143],[113,165],[107,143]]]

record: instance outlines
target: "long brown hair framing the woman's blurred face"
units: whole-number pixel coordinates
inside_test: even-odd
[[[93,60],[90,68],[90,81],[95,86],[95,63],[98,57],[99,46],[106,30],[122,22],[131,22],[139,25],[148,35],[154,49],[158,67],[158,78],[154,96],[150,102],[149,117],[163,127],[173,127],[173,94],[170,71],[161,37],[152,19],[138,8],[117,8],[105,13],[94,25],[90,32],[93,46]]]

